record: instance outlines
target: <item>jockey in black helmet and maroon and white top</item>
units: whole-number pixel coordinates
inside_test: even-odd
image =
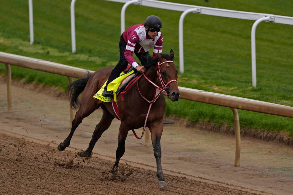
[[[140,66],[133,58],[133,52],[138,59],[140,59],[141,54],[146,53],[152,47],[154,47],[153,57],[158,55],[158,52],[162,53],[163,35],[160,32],[161,27],[162,22],[158,16],[149,16],[144,24],[130,26],[122,33],[119,42],[120,60],[109,76],[103,96],[110,96],[113,93],[107,91],[107,86],[126,69],[128,63],[139,72],[145,71],[144,66]]]

